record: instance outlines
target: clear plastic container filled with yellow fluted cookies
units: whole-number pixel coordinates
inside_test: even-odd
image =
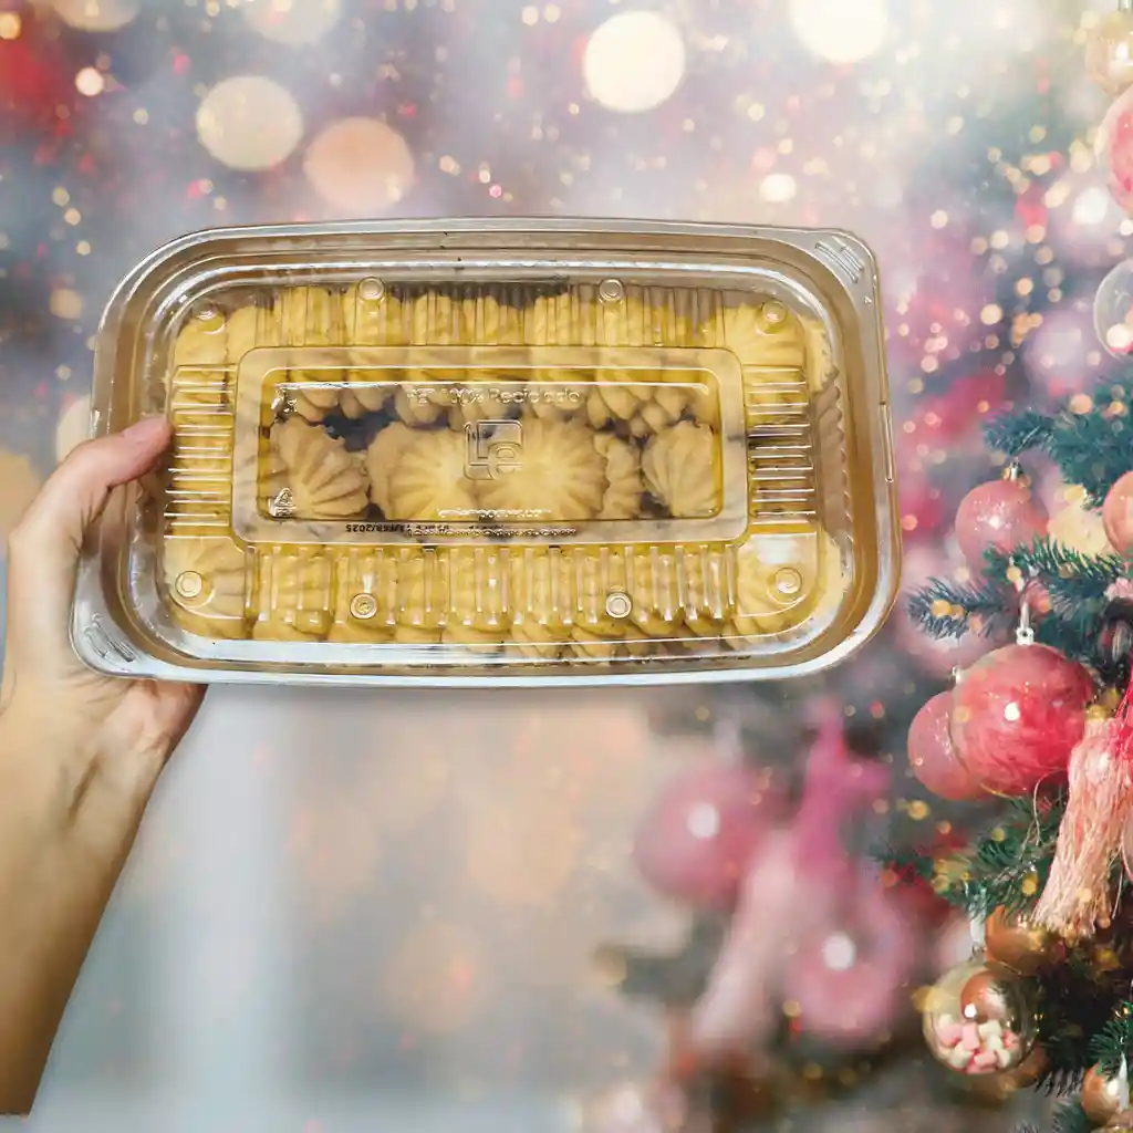
[[[879,317],[837,232],[186,237],[100,332],[94,433],[176,435],[84,563],[76,647],[197,680],[813,672],[897,583]]]

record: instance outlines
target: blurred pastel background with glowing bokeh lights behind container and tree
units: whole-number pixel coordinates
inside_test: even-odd
[[[1099,0],[0,0],[0,535],[84,435],[117,280],[220,224],[557,214],[832,225],[883,272],[906,577],[949,571],[982,415],[1116,363]],[[1051,501],[1073,509],[1074,501]],[[1074,511],[1066,522],[1084,522]],[[902,613],[835,680],[904,727],[960,654]],[[35,1130],[552,1133],[647,1073],[595,968],[676,947],[628,849],[721,722],[790,767],[812,690],[214,689],[66,1020]],[[862,837],[867,834],[863,833]],[[911,835],[910,835],[911,836]],[[911,1011],[911,1008],[910,1008]],[[811,1085],[820,1066],[802,1067]],[[753,1128],[999,1130],[918,1045]],[[793,1124],[792,1124],[793,1123]]]

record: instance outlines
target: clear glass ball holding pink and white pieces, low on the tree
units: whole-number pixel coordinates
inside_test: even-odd
[[[1034,1049],[1031,986],[983,960],[957,964],[929,989],[923,1023],[934,1057],[959,1074],[1003,1074]]]

